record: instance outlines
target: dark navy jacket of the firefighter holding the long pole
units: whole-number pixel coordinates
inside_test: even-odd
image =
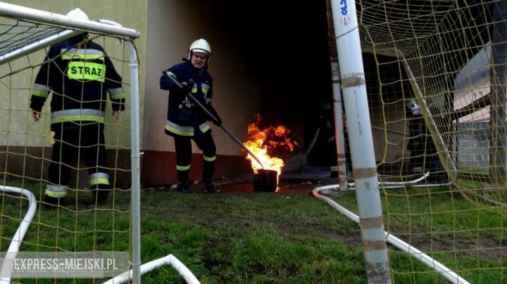
[[[185,82],[190,86],[192,93],[211,114],[218,118],[218,114],[211,105],[213,97],[213,78],[206,69],[196,69],[190,60],[184,60],[170,67],[167,74],[176,79],[177,82]],[[194,131],[205,133],[210,130],[208,120],[211,120],[206,112],[199,105],[192,103],[187,98],[186,91],[180,89],[172,79],[162,75],[160,79],[161,89],[169,90],[168,115],[165,124],[165,133],[168,135],[194,136]]]

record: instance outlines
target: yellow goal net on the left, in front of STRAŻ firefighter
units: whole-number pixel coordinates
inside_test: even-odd
[[[82,37],[83,33],[88,37]],[[82,39],[77,46],[60,56],[46,58],[51,45],[76,36]],[[136,216],[139,212],[139,176],[137,170],[131,171],[139,168],[139,161],[134,160],[139,157],[139,117],[137,57],[132,41],[137,37],[137,31],[108,20],[76,20],[0,3],[1,252],[126,252],[134,264],[139,264],[139,238],[132,233],[139,228]],[[90,46],[90,41],[102,46],[105,54],[86,49],[84,46]],[[35,84],[39,70],[48,66],[56,68],[58,65],[53,63],[62,56],[80,57],[84,62],[81,77],[73,78],[79,82],[73,83],[73,91],[78,92],[77,99],[64,95],[69,91],[65,86],[60,88],[55,84],[42,93],[41,81]],[[110,78],[96,73],[100,66],[92,63],[106,60],[111,60],[121,77],[115,82],[118,85],[115,89],[108,85],[111,84],[108,82]],[[99,71],[88,70],[87,66]],[[73,67],[80,68],[79,65]],[[71,76],[70,68],[51,70],[51,76],[60,72],[60,84],[64,84],[65,77]],[[83,91],[91,80],[101,82],[96,84],[99,91],[108,91],[107,97],[91,102],[99,105],[99,112],[87,112],[83,106],[80,113],[66,113],[65,105],[91,104]],[[70,89],[70,84],[67,87]],[[125,111],[115,119],[111,101],[116,99],[118,102],[123,97],[123,92],[117,91],[121,89],[125,93]],[[30,110],[34,94],[39,98],[47,95],[37,122]],[[54,100],[74,101],[61,103],[64,106],[60,106],[61,112],[57,113],[58,105],[51,105]],[[132,107],[136,107],[135,111],[131,110]],[[58,116],[63,112],[65,117]],[[90,118],[94,115],[99,118]],[[84,130],[87,124],[93,124],[90,121],[104,126],[104,139],[99,138],[101,130],[97,127],[95,133]],[[70,133],[66,129],[77,129],[71,131],[78,137],[65,137],[65,133]],[[59,131],[63,134],[58,136]],[[52,153],[54,145],[59,145],[61,155]],[[68,151],[69,147],[75,150]],[[90,148],[99,150],[90,151]],[[55,160],[55,157],[59,159]],[[56,181],[54,177],[53,180],[49,178],[49,171],[54,169],[59,171],[53,173],[57,176]],[[66,182],[67,179],[70,181]],[[93,189],[99,188],[98,185],[108,189],[104,202],[97,202],[94,195]],[[49,204],[44,198],[49,195],[48,191],[58,187],[65,188],[65,203],[46,206]],[[31,192],[37,209],[30,212],[34,204],[29,202],[29,195],[12,188]],[[62,192],[55,192],[59,195],[51,196],[63,200]],[[24,231],[19,231],[20,224],[24,224]],[[16,241],[14,245],[13,240]],[[5,275],[1,277],[5,280]]]

